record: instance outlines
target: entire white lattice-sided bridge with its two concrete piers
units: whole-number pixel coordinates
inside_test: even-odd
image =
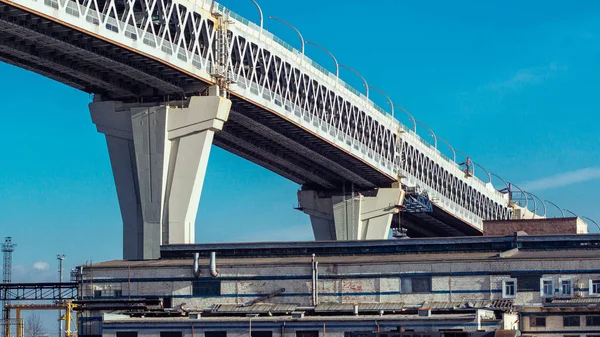
[[[214,1],[0,0],[0,60],[94,94],[126,259],[193,243],[212,144],[300,184],[317,240],[479,235],[484,219],[545,215],[421,139],[391,100]]]

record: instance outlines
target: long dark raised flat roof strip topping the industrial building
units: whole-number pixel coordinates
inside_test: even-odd
[[[600,249],[600,234],[508,235],[488,237],[419,238],[365,241],[296,241],[205,243],[161,246],[161,258],[186,259],[195,253],[208,257],[360,256],[415,253],[503,252],[521,250]]]

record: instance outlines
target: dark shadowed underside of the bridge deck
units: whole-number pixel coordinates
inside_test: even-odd
[[[0,2],[0,61],[103,100],[164,102],[208,83],[144,55]],[[34,89],[34,88],[32,88]],[[388,187],[393,179],[273,112],[231,97],[215,145],[309,188]]]

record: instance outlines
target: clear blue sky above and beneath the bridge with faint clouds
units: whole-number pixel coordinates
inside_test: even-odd
[[[260,2],[276,35],[299,46],[268,15],[296,25],[487,169],[600,220],[600,2]],[[223,3],[258,21],[250,0]],[[361,89],[353,74],[342,77]],[[19,245],[15,279],[56,279],[57,253],[68,255],[67,270],[120,258],[119,206],[90,97],[0,64],[0,101],[0,238]],[[293,209],[298,187],[213,148],[197,242],[311,239],[308,218]]]

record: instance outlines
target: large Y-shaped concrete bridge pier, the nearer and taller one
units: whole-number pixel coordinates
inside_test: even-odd
[[[193,243],[194,222],[215,131],[231,101],[191,97],[179,106],[97,101],[123,219],[123,258],[156,259],[161,244]]]

